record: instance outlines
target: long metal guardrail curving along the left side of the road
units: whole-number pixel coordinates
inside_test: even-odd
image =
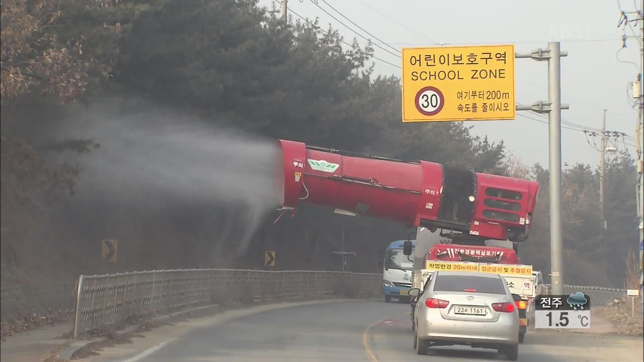
[[[177,269],[79,277],[73,336],[132,316],[220,303],[299,296],[373,295],[382,274],[332,271]]]

